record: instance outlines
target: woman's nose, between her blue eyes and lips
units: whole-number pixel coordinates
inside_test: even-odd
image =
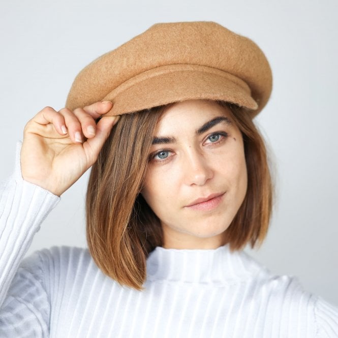
[[[186,153],[182,174],[189,186],[203,186],[213,176],[211,163],[198,150],[189,149]]]

